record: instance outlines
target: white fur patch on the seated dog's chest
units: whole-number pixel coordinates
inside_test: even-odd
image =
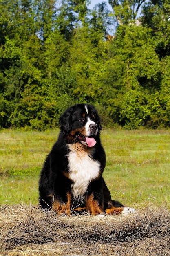
[[[75,145],[68,145],[69,178],[73,181],[73,198],[83,200],[89,183],[100,173],[100,164],[90,157],[91,151],[79,150]]]

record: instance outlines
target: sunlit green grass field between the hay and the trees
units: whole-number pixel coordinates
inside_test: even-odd
[[[0,131],[0,204],[37,204],[39,173],[59,130]],[[170,130],[103,130],[113,199],[140,209],[170,202]]]

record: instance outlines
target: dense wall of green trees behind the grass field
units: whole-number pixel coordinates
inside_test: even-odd
[[[53,128],[82,102],[105,125],[170,126],[169,1],[89,2],[0,1],[1,128]]]

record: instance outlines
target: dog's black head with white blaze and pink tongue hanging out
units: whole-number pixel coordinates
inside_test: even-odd
[[[68,108],[60,117],[59,124],[61,130],[69,135],[71,143],[79,142],[89,147],[95,145],[95,138],[102,130],[97,110],[88,104]]]

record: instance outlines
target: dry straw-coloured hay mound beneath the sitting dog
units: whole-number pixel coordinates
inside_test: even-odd
[[[0,255],[170,255],[170,213],[147,207],[128,216],[56,216],[33,206],[0,208]]]

